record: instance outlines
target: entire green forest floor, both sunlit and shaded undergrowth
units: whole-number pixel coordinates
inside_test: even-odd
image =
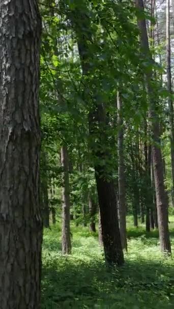
[[[61,227],[45,229],[42,309],[174,308],[174,257],[162,256],[158,231],[134,228],[128,218],[128,253],[120,269],[108,269],[97,233],[72,224],[72,255],[61,255]],[[174,217],[170,217],[174,256]]]

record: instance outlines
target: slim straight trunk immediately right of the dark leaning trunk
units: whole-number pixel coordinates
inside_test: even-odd
[[[124,145],[123,145],[123,108],[122,98],[118,91],[117,94],[118,109],[118,182],[119,182],[119,219],[122,248],[127,251],[126,238],[126,201],[125,201],[125,167],[124,167]]]

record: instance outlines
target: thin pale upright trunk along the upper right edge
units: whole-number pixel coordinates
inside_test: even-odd
[[[167,62],[167,90],[168,90],[168,110],[170,122],[170,152],[171,152],[171,176],[172,195],[174,193],[174,123],[173,123],[173,102],[171,99],[171,48],[170,48],[170,0],[166,0],[166,62]]]

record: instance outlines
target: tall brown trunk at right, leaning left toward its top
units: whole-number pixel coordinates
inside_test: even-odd
[[[142,0],[136,0],[136,7],[144,12],[144,6]],[[146,19],[141,17],[138,19],[138,27],[140,32],[140,43],[144,56],[151,60],[153,59],[149,49]],[[155,178],[155,191],[157,200],[157,211],[158,211],[158,226],[159,226],[159,237],[161,251],[171,252],[169,230],[168,230],[168,205],[167,196],[164,188],[164,177],[163,177],[163,164],[162,154],[160,148],[160,130],[159,130],[159,119],[156,113],[156,98],[154,97],[154,91],[152,87],[153,71],[152,69],[144,69],[146,77],[147,94],[149,99],[149,117],[151,120],[151,133],[153,138],[152,145],[152,157],[154,166],[154,178]]]

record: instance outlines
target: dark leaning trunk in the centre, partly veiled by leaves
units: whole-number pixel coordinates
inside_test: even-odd
[[[82,7],[83,6],[81,6],[81,8]],[[79,18],[76,18],[76,16],[79,16]],[[93,57],[95,57],[95,61],[97,61],[97,54],[92,54],[91,47],[89,48],[89,42],[93,44],[89,16],[85,14],[84,11],[76,8],[70,12],[70,19],[77,36],[82,74],[85,76],[85,79],[88,79],[88,77],[91,79],[90,71],[93,70],[93,68],[90,66],[90,63]],[[91,83],[91,81],[89,82]],[[108,151],[108,139],[106,136],[107,125],[105,112],[103,104],[96,100],[95,89],[93,89],[94,88],[91,88],[91,91],[93,91],[93,100],[91,96],[89,97],[88,91],[84,91],[84,100],[88,103],[91,102],[89,107],[90,148],[93,158],[95,158],[94,168],[100,207],[105,261],[110,265],[122,265],[124,263],[124,256],[119,230],[115,186],[112,180],[112,173],[109,171],[110,156]],[[103,149],[105,149],[104,152]],[[103,170],[103,162],[105,162],[105,170]]]

